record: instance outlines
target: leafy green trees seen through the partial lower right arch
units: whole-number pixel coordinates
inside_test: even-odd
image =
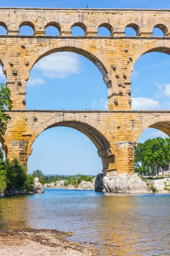
[[[135,172],[153,173],[170,163],[170,138],[157,137],[138,143],[135,148]]]

